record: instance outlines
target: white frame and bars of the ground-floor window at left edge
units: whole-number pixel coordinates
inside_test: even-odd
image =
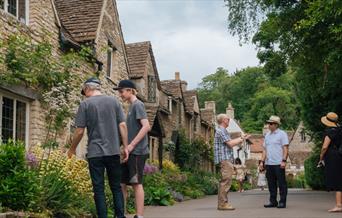
[[[17,101],[23,102],[26,104],[26,119],[25,119],[25,148],[28,149],[29,147],[29,121],[30,121],[30,103],[21,97],[15,96],[13,94],[7,92],[0,92],[0,142],[2,141],[2,104],[3,104],[3,97],[12,99],[13,102],[13,140],[16,138],[16,114],[17,114]]]

